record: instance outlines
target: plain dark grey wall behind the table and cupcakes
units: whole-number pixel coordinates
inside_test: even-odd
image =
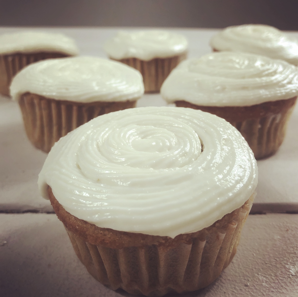
[[[298,0],[0,0],[0,26],[210,27],[298,30]]]

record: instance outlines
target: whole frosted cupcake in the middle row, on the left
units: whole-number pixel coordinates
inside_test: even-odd
[[[139,71],[97,57],[40,61],[21,70],[10,86],[29,140],[44,152],[92,118],[134,107],[143,93]]]

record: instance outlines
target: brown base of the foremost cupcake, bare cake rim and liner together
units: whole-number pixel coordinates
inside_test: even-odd
[[[212,226],[175,238],[100,228],[52,206],[89,273],[113,290],[163,296],[206,287],[233,259],[255,193]]]

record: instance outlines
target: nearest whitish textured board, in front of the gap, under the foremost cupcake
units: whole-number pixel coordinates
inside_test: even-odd
[[[132,296],[109,290],[86,272],[55,214],[1,214],[0,263],[0,296]],[[181,296],[297,297],[297,263],[298,215],[250,215],[221,276]]]

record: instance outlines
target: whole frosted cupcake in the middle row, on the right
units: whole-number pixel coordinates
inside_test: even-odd
[[[261,159],[283,142],[297,99],[298,70],[254,54],[212,53],[182,62],[162,85],[161,94],[168,103],[226,119]]]

